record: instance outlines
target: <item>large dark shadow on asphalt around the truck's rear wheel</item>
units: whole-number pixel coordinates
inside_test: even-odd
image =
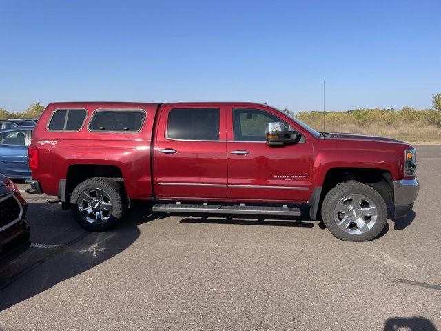
[[[59,205],[30,202],[28,208],[34,246],[50,243],[57,247],[31,247],[10,265],[0,268],[0,311],[111,259],[139,238],[139,224],[164,216],[148,214],[140,206],[114,230],[85,232]]]

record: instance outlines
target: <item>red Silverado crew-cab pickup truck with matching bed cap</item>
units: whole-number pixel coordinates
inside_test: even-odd
[[[342,240],[376,237],[413,207],[407,143],[320,133],[258,103],[50,103],[32,134],[29,192],[59,197],[88,230],[134,200],[156,212],[322,217]],[[304,215],[305,216],[305,215]]]

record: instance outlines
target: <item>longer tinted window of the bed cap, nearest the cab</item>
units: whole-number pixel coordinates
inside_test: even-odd
[[[90,131],[138,132],[145,121],[143,110],[96,110]]]

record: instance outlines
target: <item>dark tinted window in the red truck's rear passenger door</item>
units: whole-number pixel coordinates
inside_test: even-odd
[[[219,140],[219,108],[174,108],[167,119],[167,138]]]

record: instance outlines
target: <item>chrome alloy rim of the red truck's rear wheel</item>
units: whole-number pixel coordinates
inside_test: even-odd
[[[112,214],[112,201],[99,188],[88,188],[81,192],[76,204],[81,216],[91,224],[104,223]]]

